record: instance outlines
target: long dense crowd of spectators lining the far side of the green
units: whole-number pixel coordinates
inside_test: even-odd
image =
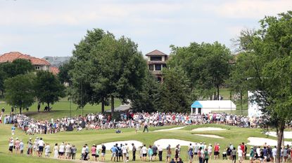
[[[101,113],[89,113],[73,118],[58,118],[51,120],[34,120],[24,114],[11,114],[4,116],[4,124],[15,124],[15,127],[23,129],[26,134],[54,134],[56,132],[72,131],[76,129],[123,129],[148,126],[165,125],[201,125],[217,123],[237,127],[258,128],[261,118],[248,118],[242,115],[227,113],[188,114],[188,113],[133,113],[132,111],[120,113],[119,120],[110,118],[110,115]]]

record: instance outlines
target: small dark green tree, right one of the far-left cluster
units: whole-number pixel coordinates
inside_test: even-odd
[[[65,87],[58,78],[49,71],[38,71],[34,82],[34,90],[39,102],[46,103],[48,107],[65,97]]]

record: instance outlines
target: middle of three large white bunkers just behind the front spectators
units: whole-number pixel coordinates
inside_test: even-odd
[[[154,142],[155,146],[160,145],[163,147],[163,149],[166,149],[168,145],[170,145],[170,148],[175,148],[177,144],[179,144],[179,146],[189,146],[190,143],[195,144],[191,141],[183,141],[179,139],[159,139]]]

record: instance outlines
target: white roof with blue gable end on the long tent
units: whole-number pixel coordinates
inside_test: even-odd
[[[236,105],[230,100],[206,100],[194,101],[191,108],[236,108]]]

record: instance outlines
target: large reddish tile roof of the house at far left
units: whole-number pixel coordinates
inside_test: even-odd
[[[32,63],[32,65],[46,65],[50,66],[51,64],[45,59],[39,59],[37,57],[32,57],[30,55],[24,55],[20,52],[8,52],[0,56],[0,63],[2,62],[13,62],[15,59],[27,59]]]

